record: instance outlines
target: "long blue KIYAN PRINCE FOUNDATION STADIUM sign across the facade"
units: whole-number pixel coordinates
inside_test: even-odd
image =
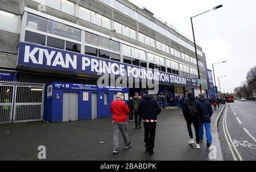
[[[25,42],[19,44],[18,65],[196,86],[196,81],[191,83],[190,78],[179,75]]]

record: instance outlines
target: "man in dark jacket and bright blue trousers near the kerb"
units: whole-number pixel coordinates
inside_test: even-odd
[[[203,115],[200,119],[200,140],[204,139],[204,127],[205,134],[207,137],[207,146],[209,147],[212,144],[212,135],[210,134],[210,118],[212,117],[212,105],[205,101],[204,94],[199,94],[199,102],[198,102],[203,110]],[[204,127],[203,127],[204,125]]]

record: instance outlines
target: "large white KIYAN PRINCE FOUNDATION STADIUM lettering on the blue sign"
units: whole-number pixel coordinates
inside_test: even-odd
[[[172,75],[169,73],[159,72],[158,70],[140,68],[133,65],[124,65],[114,61],[112,62],[100,60],[97,57],[77,58],[77,55],[73,53],[63,51],[58,52],[55,49],[51,50],[49,48],[31,48],[30,45],[24,45],[23,61],[27,64],[36,64],[36,66],[54,66],[67,69],[77,69],[77,64],[79,64],[79,72],[81,72],[82,70],[89,73],[97,73],[98,75],[102,75],[102,73],[113,74],[125,77],[127,76],[129,78],[133,77],[135,79],[147,79],[149,81],[154,80],[157,82],[162,81],[187,85],[187,78]]]

